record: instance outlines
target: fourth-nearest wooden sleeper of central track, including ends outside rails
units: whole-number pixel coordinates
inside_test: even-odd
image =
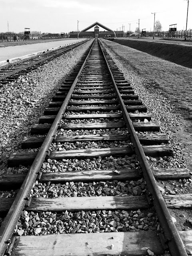
[[[142,146],[144,153],[148,156],[172,156],[172,150],[167,145],[160,146]],[[94,158],[94,157],[106,157],[106,156],[122,156],[131,155],[134,151],[131,147],[123,148],[88,148],[79,150],[66,150],[66,151],[54,151],[51,152],[49,156],[45,159],[69,159],[69,158]],[[10,153],[8,158],[8,166],[19,166],[20,164],[28,166],[32,164],[37,152],[17,152]]]

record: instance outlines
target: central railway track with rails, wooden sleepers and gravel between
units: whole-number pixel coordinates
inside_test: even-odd
[[[28,174],[0,176],[2,188],[20,186],[0,200],[1,255],[185,256],[190,233],[167,208],[179,199],[165,200],[155,178],[190,176],[150,169],[145,154],[173,154],[166,134],[98,40],[87,54],[8,158]]]

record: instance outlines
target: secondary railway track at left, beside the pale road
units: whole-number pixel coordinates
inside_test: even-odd
[[[80,46],[81,44],[84,44],[87,41],[88,40],[84,40],[83,42],[64,46],[51,52],[47,51],[41,55],[20,60],[13,64],[9,63],[5,66],[0,67],[0,87],[2,87],[4,84],[8,84],[9,82],[14,81],[21,75],[27,74],[32,70],[36,70],[43,64],[50,62],[54,58],[65,54],[66,52]]]

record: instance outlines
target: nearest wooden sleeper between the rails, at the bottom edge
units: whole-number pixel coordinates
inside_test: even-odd
[[[188,238],[187,238],[188,239]],[[189,239],[188,239],[189,240]],[[111,245],[114,245],[111,248]],[[158,232],[112,232],[19,236],[12,256],[106,256],[164,254]]]

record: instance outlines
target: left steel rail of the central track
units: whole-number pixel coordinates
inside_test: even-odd
[[[0,256],[2,256],[4,254],[4,252],[6,250],[6,241],[8,239],[10,239],[10,237],[12,236],[12,233],[14,231],[16,223],[20,218],[20,214],[21,214],[26,202],[28,201],[28,196],[30,194],[32,186],[38,176],[39,170],[40,170],[42,163],[47,155],[50,144],[52,143],[52,140],[54,139],[54,135],[58,129],[58,126],[60,124],[62,116],[64,115],[64,112],[66,110],[68,102],[70,101],[70,98],[72,96],[72,93],[74,91],[76,83],[78,81],[78,77],[80,76],[80,74],[86,64],[86,61],[90,55],[93,45],[94,45],[94,41],[92,42],[90,51],[88,52],[88,55],[87,55],[86,59],[84,60],[82,67],[80,68],[80,70],[79,70],[79,72],[78,72],[78,74],[77,74],[43,144],[42,144],[42,146],[40,147],[40,150],[38,151],[38,154],[37,154],[32,166],[30,167],[28,174],[27,174],[18,194],[16,195],[16,198],[15,198],[8,214],[6,215],[4,221],[2,222],[2,226],[0,227]]]

